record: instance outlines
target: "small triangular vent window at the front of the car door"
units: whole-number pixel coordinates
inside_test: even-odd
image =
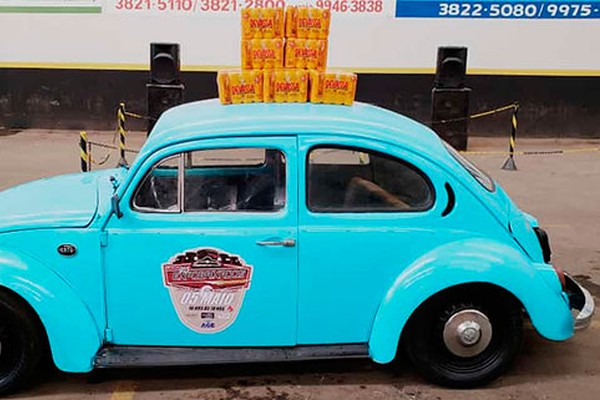
[[[179,156],[158,162],[144,177],[133,205],[141,211],[180,212],[179,206]]]

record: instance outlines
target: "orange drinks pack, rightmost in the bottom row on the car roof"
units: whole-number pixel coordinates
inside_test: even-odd
[[[350,106],[356,96],[357,79],[352,72],[311,71],[310,101]]]

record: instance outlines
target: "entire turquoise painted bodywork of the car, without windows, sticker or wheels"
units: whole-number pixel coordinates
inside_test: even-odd
[[[310,211],[305,165],[319,144],[405,160],[429,177],[433,206],[395,213]],[[239,146],[286,152],[283,211],[131,209],[146,171],[164,157]],[[121,218],[111,208],[113,194]],[[570,337],[568,301],[552,266],[542,262],[536,225],[500,186],[489,191],[473,179],[435,133],[393,112],[361,103],[223,106],[209,100],[165,112],[129,168],[0,193],[0,285],[32,305],[65,371],[89,371],[102,345],[368,343],[375,361],[389,362],[414,310],[433,294],[469,282],[514,294],[544,337]],[[256,243],[284,239],[298,246]],[[76,255],[60,255],[61,244],[74,245]],[[254,268],[237,319],[216,333],[186,326],[163,280],[172,257],[198,248],[238,255]]]

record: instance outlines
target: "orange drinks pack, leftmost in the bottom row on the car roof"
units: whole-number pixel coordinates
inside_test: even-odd
[[[222,104],[263,101],[263,71],[219,71],[217,85],[219,87],[219,99]]]

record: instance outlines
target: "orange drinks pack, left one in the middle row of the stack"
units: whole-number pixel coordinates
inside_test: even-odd
[[[243,69],[283,67],[283,39],[242,40]]]

